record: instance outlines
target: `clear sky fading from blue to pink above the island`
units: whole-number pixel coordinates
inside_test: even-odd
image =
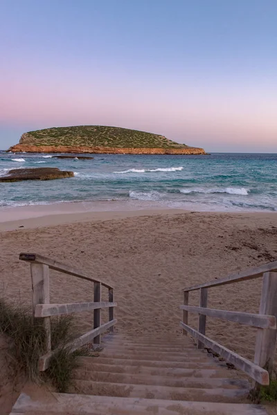
[[[0,149],[80,124],[277,153],[276,0],[0,0]]]

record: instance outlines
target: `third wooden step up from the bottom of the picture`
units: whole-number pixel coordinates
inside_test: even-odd
[[[102,355],[101,355],[102,356]],[[226,368],[226,365],[221,362],[211,360],[211,362],[204,361],[174,361],[174,360],[142,360],[137,358],[115,358],[115,357],[99,357],[99,358],[81,358],[85,362],[93,360],[93,362],[104,365],[129,365],[129,366],[152,366],[152,367],[180,367],[182,369],[216,369],[219,367]],[[147,357],[147,356],[145,356]],[[87,363],[86,363],[87,364]]]

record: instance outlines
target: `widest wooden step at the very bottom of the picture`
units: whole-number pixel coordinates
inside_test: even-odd
[[[12,415],[27,415],[27,412],[28,415],[267,415],[263,407],[240,403],[172,402],[77,394],[53,394],[53,400],[47,402],[21,394],[12,410]]]

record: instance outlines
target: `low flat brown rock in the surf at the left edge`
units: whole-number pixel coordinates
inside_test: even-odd
[[[53,167],[38,169],[12,169],[7,176],[0,177],[0,182],[13,182],[22,180],[53,180],[55,178],[74,177],[73,172],[63,172]]]

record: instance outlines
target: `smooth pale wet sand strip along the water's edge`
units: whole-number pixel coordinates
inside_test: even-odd
[[[174,214],[197,214],[199,216],[224,215],[275,219],[277,212],[260,211],[200,211],[185,208],[170,208],[159,203],[133,203],[126,201],[62,202],[46,205],[24,205],[0,208],[0,232],[35,229],[82,223],[110,221],[139,216]]]

